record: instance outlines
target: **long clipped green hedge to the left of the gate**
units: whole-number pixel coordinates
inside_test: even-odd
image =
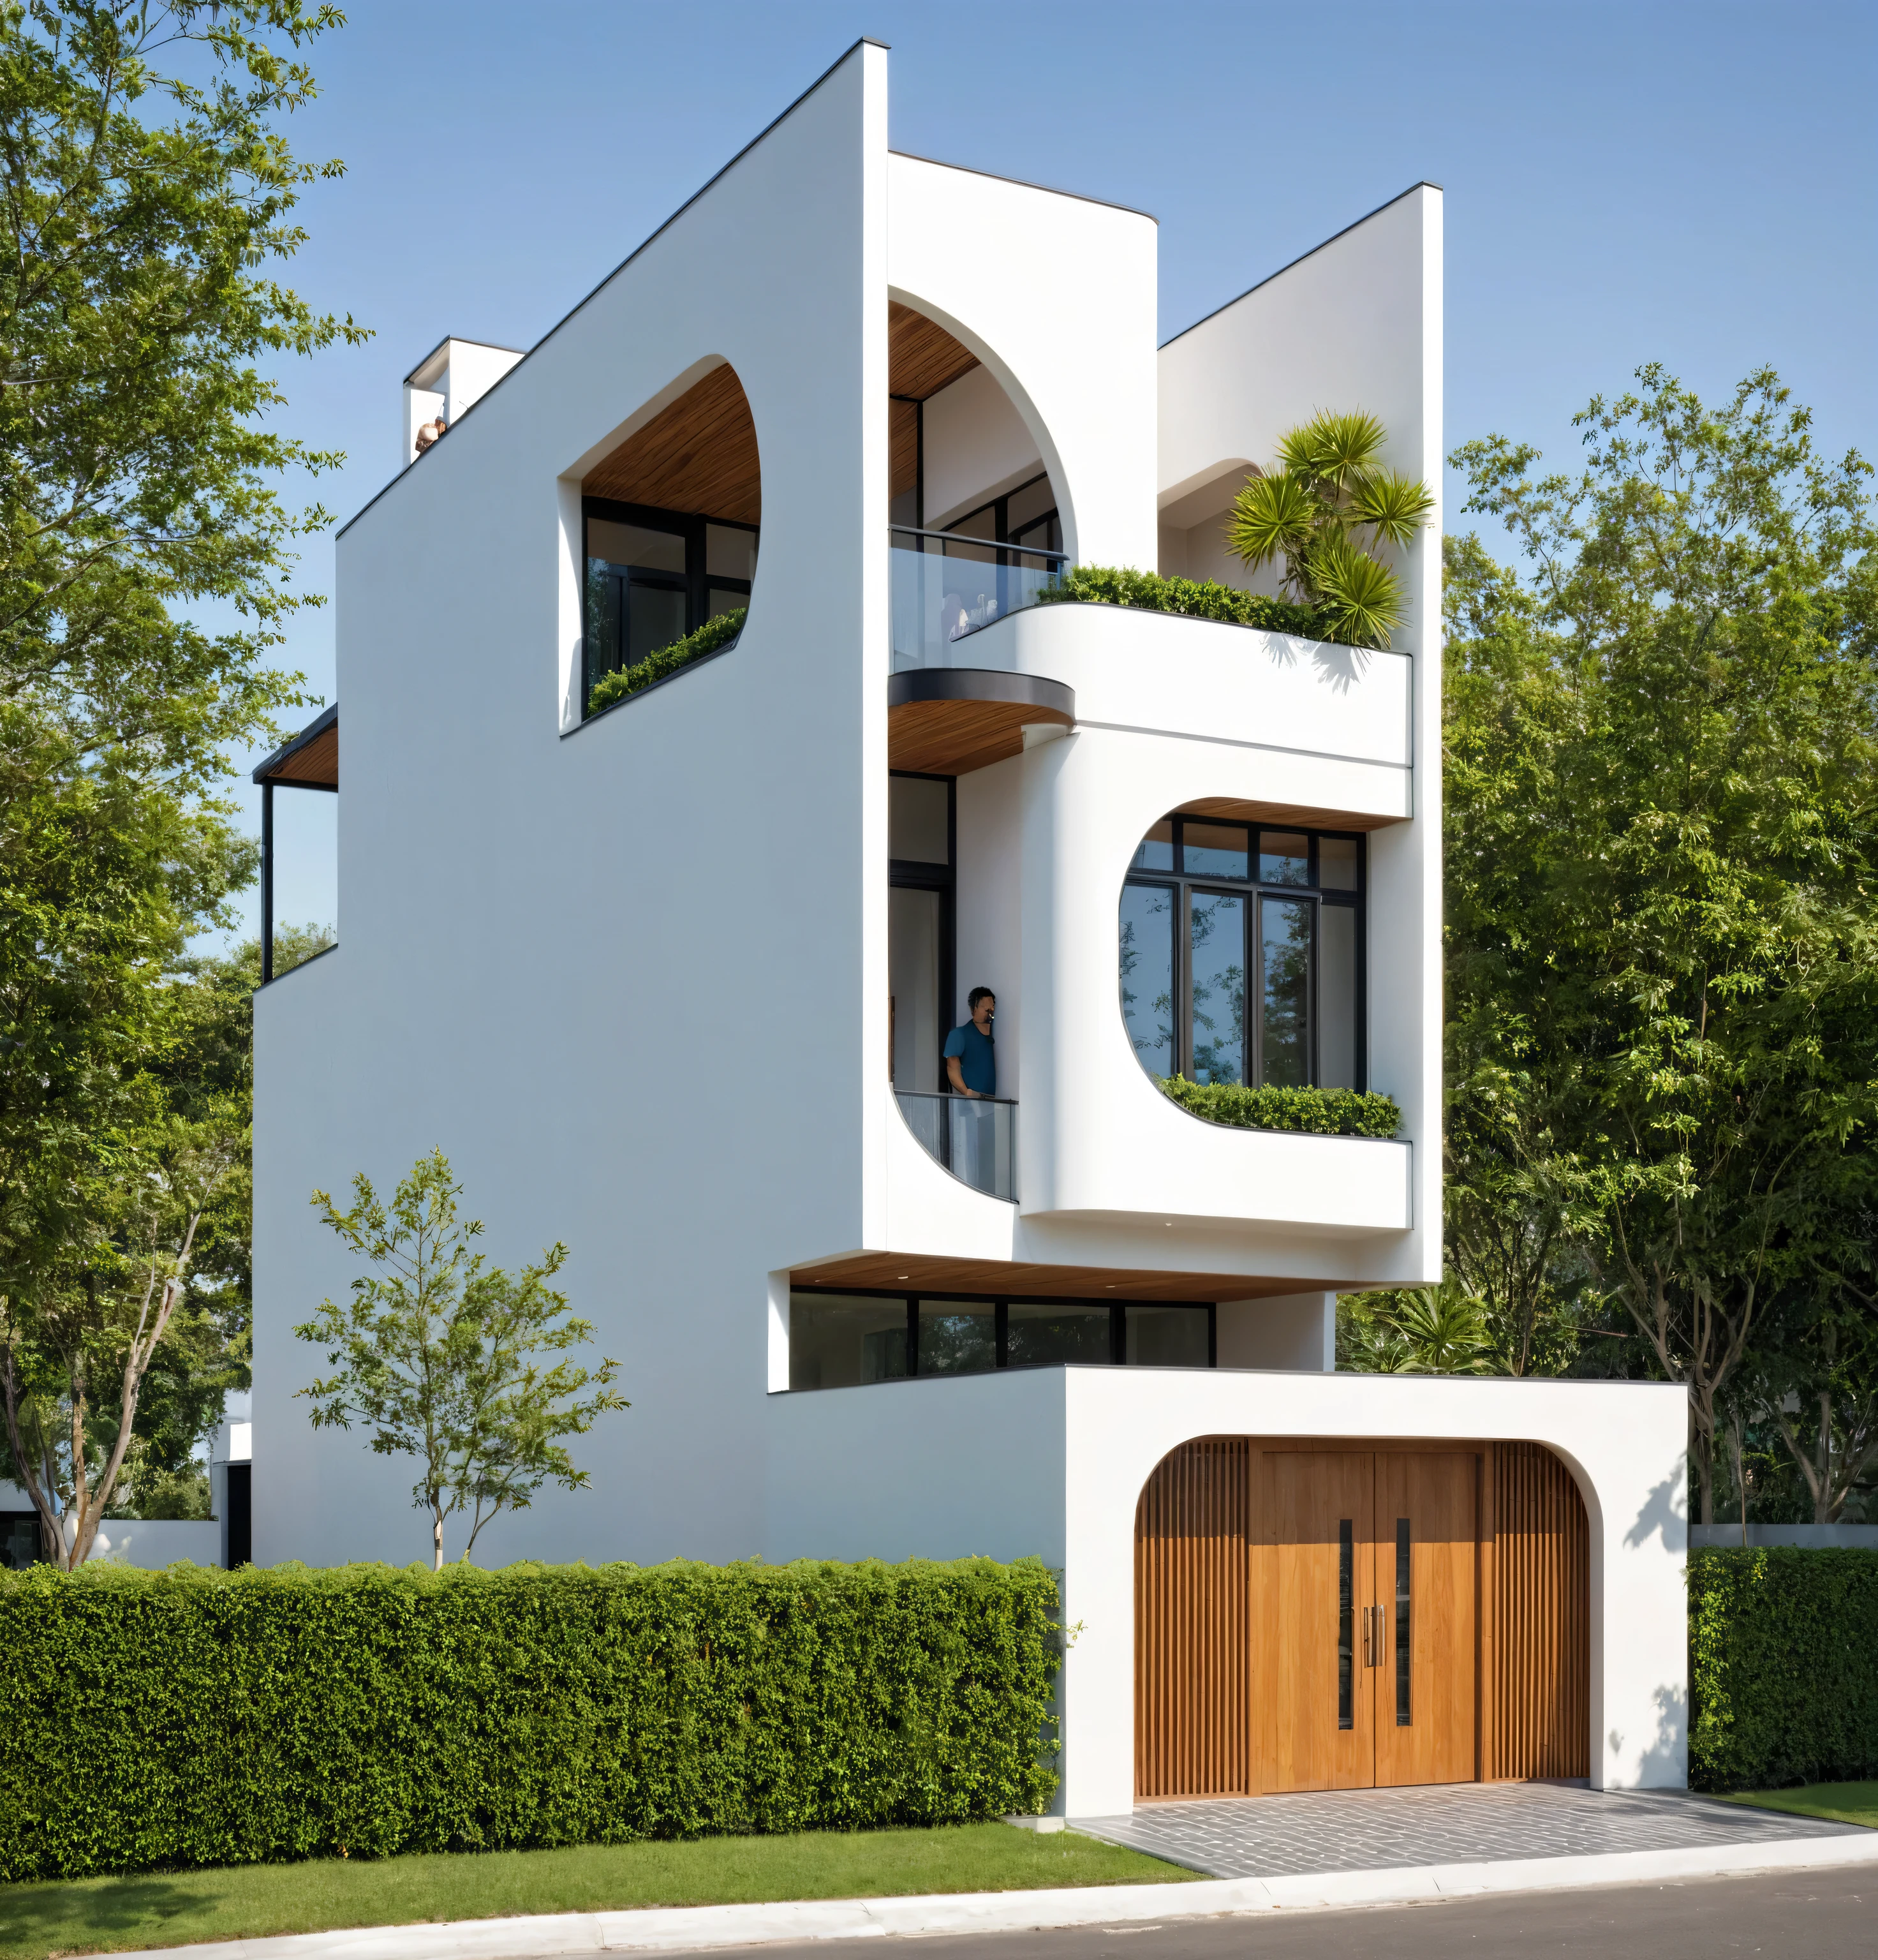
[[[1035,1560],[0,1572],[0,1880],[1041,1811],[1055,1611]]]

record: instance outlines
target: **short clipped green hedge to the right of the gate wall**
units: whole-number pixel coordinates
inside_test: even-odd
[[[1690,1784],[1878,1776],[1878,1552],[1690,1552]]]

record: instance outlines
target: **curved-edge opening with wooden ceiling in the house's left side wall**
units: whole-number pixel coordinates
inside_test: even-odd
[[[712,368],[580,484],[582,711],[735,645],[757,580],[763,465],[743,382]],[[614,678],[618,676],[618,678]]]

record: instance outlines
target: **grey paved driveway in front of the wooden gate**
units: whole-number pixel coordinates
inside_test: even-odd
[[[1449,1784],[1137,1803],[1127,1817],[1072,1817],[1070,1827],[1213,1878],[1768,1844],[1845,1837],[1856,1829],[1819,1817],[1749,1811],[1680,1789],[1604,1791],[1574,1784]]]

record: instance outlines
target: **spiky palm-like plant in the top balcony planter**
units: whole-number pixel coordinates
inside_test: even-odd
[[[1278,468],[1247,478],[1227,521],[1247,566],[1282,561],[1284,590],[1327,608],[1353,647],[1386,647],[1402,623],[1402,580],[1376,547],[1404,549],[1435,508],[1427,484],[1384,468],[1386,441],[1362,410],[1313,416],[1278,439]]]

